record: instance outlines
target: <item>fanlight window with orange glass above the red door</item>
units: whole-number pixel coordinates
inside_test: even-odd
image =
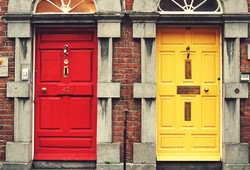
[[[35,13],[95,13],[94,0],[40,0]]]

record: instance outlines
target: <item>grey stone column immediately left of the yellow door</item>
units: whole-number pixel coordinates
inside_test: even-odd
[[[139,17],[139,18],[137,18]],[[156,168],[156,23],[152,15],[131,16],[133,37],[141,39],[141,83],[134,83],[134,98],[141,98],[141,143],[134,143],[133,163]],[[139,20],[138,20],[139,19]],[[146,20],[142,22],[141,20]],[[143,154],[142,154],[143,153]]]

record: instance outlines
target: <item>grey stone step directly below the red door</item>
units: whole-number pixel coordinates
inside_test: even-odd
[[[32,164],[34,170],[63,169],[63,170],[95,170],[96,162],[70,162],[70,161],[34,161]]]

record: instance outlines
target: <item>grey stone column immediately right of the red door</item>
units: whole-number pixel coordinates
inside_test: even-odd
[[[120,97],[120,83],[113,83],[113,38],[120,37],[121,17],[98,20],[97,169],[106,162],[120,164],[120,144],[112,141],[112,98]],[[105,20],[104,20],[105,18]]]

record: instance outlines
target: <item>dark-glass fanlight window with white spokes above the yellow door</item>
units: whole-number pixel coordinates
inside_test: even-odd
[[[220,14],[222,13],[219,0],[160,0],[160,13],[173,14]]]

